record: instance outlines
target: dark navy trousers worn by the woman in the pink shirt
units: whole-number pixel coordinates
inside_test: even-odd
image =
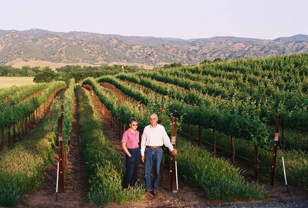
[[[127,188],[128,185],[134,186],[138,179],[138,167],[140,163],[140,149],[139,147],[134,149],[127,149],[131,153],[131,157],[126,156],[126,173],[123,178],[123,187]]]

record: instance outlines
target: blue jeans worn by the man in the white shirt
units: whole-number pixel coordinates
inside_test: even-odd
[[[144,164],[144,179],[146,190],[157,190],[159,182],[159,169],[160,163],[163,158],[162,148],[146,148],[144,152],[145,164]],[[153,182],[151,185],[151,169],[153,165]]]

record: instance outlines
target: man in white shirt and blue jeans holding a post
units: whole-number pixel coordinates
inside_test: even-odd
[[[157,195],[159,169],[163,158],[162,145],[169,148],[173,155],[176,155],[176,149],[173,148],[170,138],[167,135],[165,128],[157,123],[158,117],[155,113],[150,114],[150,125],[143,130],[141,139],[141,161],[144,165],[144,179],[146,192],[151,192]],[[153,168],[153,182],[151,185],[151,169]]]

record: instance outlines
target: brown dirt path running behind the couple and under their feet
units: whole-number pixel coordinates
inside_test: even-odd
[[[116,134],[114,128],[110,126],[110,123],[107,118],[103,116],[100,112],[100,108],[97,105],[94,96],[91,96],[93,105],[96,112],[98,113],[101,122],[103,124],[104,133],[107,136],[112,148],[121,154],[121,161],[125,164],[125,153],[122,150],[121,139],[123,133],[119,138],[119,135]],[[168,167],[169,168],[169,167]],[[169,186],[169,169],[164,168],[163,170],[163,182],[159,183],[158,186],[158,196],[153,196],[151,194],[145,194],[143,200],[130,202],[126,205],[128,206],[142,206],[142,207],[181,207],[181,206],[192,206],[192,205],[208,205],[210,203],[215,203],[215,201],[208,201],[206,199],[205,191],[197,188],[194,185],[188,184],[184,181],[182,177],[179,177],[178,186],[179,190],[175,193],[168,189]],[[139,166],[139,175],[137,183],[142,184],[144,182],[144,163],[140,163]],[[173,181],[173,187],[176,188],[175,177]],[[217,201],[216,201],[217,202]],[[125,206],[126,207],[126,206]]]

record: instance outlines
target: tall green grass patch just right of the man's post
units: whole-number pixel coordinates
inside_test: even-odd
[[[214,158],[209,152],[181,138],[177,139],[176,148],[179,174],[187,182],[205,190],[208,199],[235,201],[266,196],[262,186],[245,181],[241,171],[228,161]],[[169,156],[165,157],[168,162]]]

